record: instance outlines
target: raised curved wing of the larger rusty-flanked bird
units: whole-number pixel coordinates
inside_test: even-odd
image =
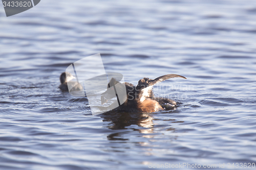
[[[162,81],[165,81],[167,79],[176,78],[176,77],[186,79],[184,76],[169,74],[169,75],[160,76],[156,79],[143,78],[139,80],[136,88],[141,90],[141,93],[139,96],[140,102],[143,102],[146,98],[154,98],[153,85],[160,83]]]

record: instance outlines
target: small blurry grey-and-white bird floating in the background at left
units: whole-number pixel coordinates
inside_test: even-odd
[[[60,80],[60,85],[59,88],[62,91],[69,91],[68,88],[68,84],[67,82],[69,82],[69,86],[72,87],[72,89],[70,91],[81,91],[83,90],[81,84],[77,83],[77,82],[72,82],[71,80],[74,79],[74,76],[72,76],[69,72],[62,72],[59,80]]]

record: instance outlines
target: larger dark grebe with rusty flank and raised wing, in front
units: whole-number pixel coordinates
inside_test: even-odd
[[[135,111],[135,112],[156,112],[159,110],[170,110],[174,109],[177,106],[177,103],[173,100],[167,98],[155,98],[153,93],[153,85],[160,83],[164,80],[180,77],[186,79],[180,75],[164,75],[156,79],[143,78],[139,80],[138,85],[134,86],[131,83],[123,83],[126,87],[127,99],[126,101],[117,107],[115,110],[119,111]],[[110,97],[109,90],[113,90],[113,85],[118,89],[121,86],[118,86],[118,83],[114,78],[112,78],[108,84],[108,89],[102,93],[101,103],[104,104]],[[109,94],[108,94],[109,93]]]

